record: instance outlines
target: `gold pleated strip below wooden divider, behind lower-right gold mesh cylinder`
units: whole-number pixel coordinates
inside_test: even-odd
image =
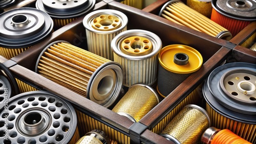
[[[160,134],[166,125],[183,109],[184,106],[189,104],[198,104],[201,102],[202,98],[202,84],[199,85],[195,90],[187,95],[187,97],[182,100],[169,114],[167,114],[161,122],[159,122],[152,131],[154,133]]]

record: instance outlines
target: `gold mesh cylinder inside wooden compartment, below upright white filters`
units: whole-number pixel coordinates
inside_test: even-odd
[[[139,122],[158,103],[158,95],[152,87],[145,84],[134,84],[112,111],[131,119],[133,122]]]

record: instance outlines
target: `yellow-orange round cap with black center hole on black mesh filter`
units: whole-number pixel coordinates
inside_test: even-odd
[[[197,71],[203,63],[201,54],[187,45],[172,44],[163,47],[159,63],[168,71],[176,74],[190,74]]]

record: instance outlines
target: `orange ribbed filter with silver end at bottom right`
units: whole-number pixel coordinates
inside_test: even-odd
[[[250,144],[250,142],[241,138],[240,136],[234,134],[228,129],[217,129],[215,127],[210,127],[203,133],[201,137],[202,144]]]

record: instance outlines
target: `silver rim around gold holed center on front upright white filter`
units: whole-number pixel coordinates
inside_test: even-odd
[[[126,53],[122,52],[121,49],[121,43],[124,39],[129,38],[129,37],[144,37],[148,40],[151,41],[153,47],[152,47],[152,51],[151,53],[148,53],[146,55],[139,55],[139,56],[134,56],[134,55],[129,55]],[[121,33],[119,33],[118,35],[116,35],[112,42],[111,42],[111,48],[113,50],[113,52],[118,55],[119,57],[128,59],[128,60],[144,60],[144,59],[148,59],[151,58],[155,55],[157,55],[162,48],[162,41],[161,39],[154,33],[150,32],[150,31],[146,31],[146,30],[127,30],[127,31],[123,31]]]

